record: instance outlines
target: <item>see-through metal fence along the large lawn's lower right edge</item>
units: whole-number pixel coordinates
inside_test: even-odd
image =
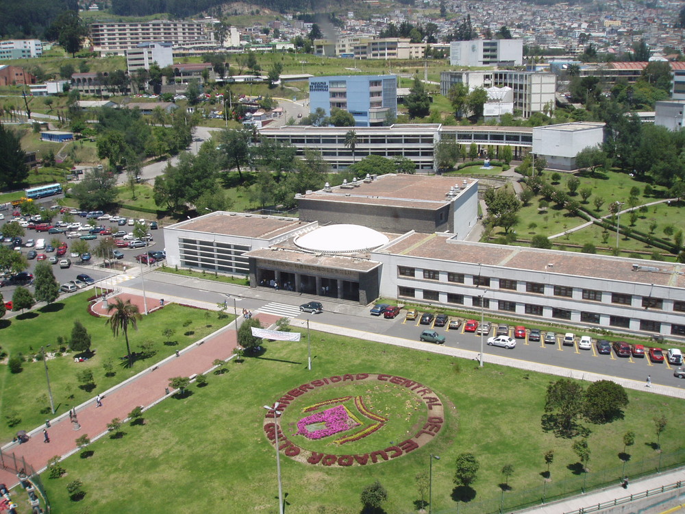
[[[499,495],[480,501],[458,501],[456,506],[449,509],[436,510],[434,514],[491,514],[512,512],[526,507],[545,504],[547,502],[561,500],[580,493],[586,493],[592,489],[615,486],[621,487],[621,479],[626,476],[630,479],[639,478],[665,469],[678,467],[685,463],[685,450],[647,458],[643,461],[627,461],[623,464],[598,471],[582,472],[578,470],[577,476],[564,480],[541,480],[538,487],[512,489],[501,491]],[[435,491],[434,491],[435,492]],[[435,497],[435,494],[433,495]]]

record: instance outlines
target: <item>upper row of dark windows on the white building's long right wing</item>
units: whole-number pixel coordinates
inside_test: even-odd
[[[397,275],[401,277],[416,277],[416,269],[407,266],[398,266]],[[436,269],[424,269],[423,278],[425,280],[440,280],[440,271]],[[458,284],[464,283],[464,273],[447,273],[447,282],[454,282]],[[484,276],[473,276],[474,286],[484,286],[490,287],[490,277]],[[499,289],[509,289],[511,291],[516,291],[519,286],[518,280],[510,280],[508,278],[499,279]],[[525,292],[534,294],[545,294],[545,284],[540,284],[540,282],[525,282]],[[552,294],[554,296],[561,296],[566,298],[573,297],[573,287],[571,286],[553,286]],[[601,302],[602,301],[602,291],[595,289],[583,289],[582,298],[590,302]],[[627,295],[624,293],[611,293],[611,303],[619,305],[632,305],[633,295]],[[642,306],[644,308],[651,308],[656,310],[663,310],[664,300],[662,298],[653,297],[642,297]],[[673,310],[684,313],[685,312],[685,302],[674,301]]]

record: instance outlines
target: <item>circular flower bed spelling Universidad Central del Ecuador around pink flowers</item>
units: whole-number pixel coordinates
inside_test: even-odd
[[[279,450],[309,465],[390,461],[432,441],[445,424],[443,402],[432,389],[394,375],[320,378],[275,402],[280,415],[266,411],[264,434],[275,445],[278,416]]]

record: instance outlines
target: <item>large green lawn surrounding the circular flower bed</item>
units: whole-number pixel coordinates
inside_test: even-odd
[[[547,497],[562,489],[581,487],[585,477],[577,471],[573,441],[557,439],[540,428],[545,390],[556,378],[495,365],[479,369],[469,360],[318,332],[312,332],[311,341],[312,371],[307,371],[305,344],[267,343],[264,358],[229,363],[229,372],[210,375],[207,387],[192,385],[190,396],[165,400],[151,408],[145,413],[145,425],[125,426],[121,439],[103,438],[91,445],[94,454],[90,458],[76,455],[66,459],[62,465],[67,476],[43,479],[53,509],[155,514],[178,511],[180,504],[192,504],[197,512],[225,511],[230,503],[232,512],[275,513],[274,449],[262,429],[262,405],[273,404],[290,389],[311,380],[345,373],[395,374],[419,380],[443,401],[445,423],[438,436],[423,448],[389,462],[355,469],[299,463],[282,454],[282,482],[289,513],[358,512],[361,489],[376,479],[388,491],[384,505],[388,514],[415,511],[419,494],[414,477],[427,471],[430,453],[440,456],[433,465],[434,511],[457,506],[451,498],[452,478],[454,461],[462,452],[473,452],[480,463],[473,483],[475,498],[462,506],[462,513],[483,513],[499,507],[499,484],[504,481],[500,470],[507,463],[514,466],[508,495],[525,496],[527,488],[541,489],[540,474],[546,470],[543,454],[548,450],[555,454]],[[369,400],[379,387],[369,384],[361,394]],[[330,398],[349,392],[341,387],[328,391]],[[635,432],[636,441],[627,449],[631,454],[627,474],[643,469],[640,461],[658,456],[652,448],[656,441],[653,417],[664,415],[668,421],[660,439],[664,452],[685,446],[680,433],[685,421],[682,400],[643,391],[627,393],[630,405],[623,419],[604,426],[588,425],[592,432],[589,468],[597,473],[590,474],[588,485],[605,468],[612,469],[604,480],[618,480],[621,461],[617,454],[623,451],[622,435],[629,430]],[[320,394],[316,399],[325,396]],[[409,409],[407,415],[414,412],[411,402],[403,404],[402,397],[388,400],[385,406],[369,406],[388,408],[391,414],[398,402]],[[301,436],[294,435],[298,411],[286,412],[282,430],[288,439],[299,443],[297,438]],[[407,422],[412,423],[411,419]],[[420,428],[421,424],[415,423],[408,433]],[[385,435],[379,430],[375,435],[383,447],[399,442],[397,432],[392,430]],[[368,449],[366,442],[361,439],[347,443],[345,451],[363,452]],[[664,463],[667,461],[664,456]],[[136,472],[132,473],[132,469]],[[66,493],[66,485],[75,479],[83,481],[86,491],[78,505]],[[540,492],[534,494],[539,497]]]

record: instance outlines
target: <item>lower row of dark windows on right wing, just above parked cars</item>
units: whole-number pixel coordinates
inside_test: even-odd
[[[416,289],[414,289],[412,287],[399,286],[398,295],[399,295],[399,297],[415,298],[416,297]],[[447,293],[447,303],[448,304],[464,305],[464,299],[465,298],[466,297],[464,295],[459,295],[456,293]],[[440,301],[440,292],[439,291],[432,291],[429,289],[424,289],[423,290],[423,299],[427,300],[428,302],[439,302]],[[471,297],[471,306],[473,306],[473,307],[490,308],[490,304],[496,304],[496,306],[493,306],[493,308],[497,308],[497,310],[503,310],[503,311],[508,312],[508,313],[515,313],[516,312],[516,302],[509,302],[508,300],[492,300],[492,301],[490,301],[489,298],[484,298],[481,296],[472,296]],[[541,317],[544,315],[544,308],[541,305],[524,304],[524,312],[527,315],[540,316]],[[554,307],[551,310],[551,317],[553,317],[555,319],[570,320],[571,319],[571,310]],[[581,311],[581,313],[580,313],[580,321],[582,323],[592,323],[593,325],[599,325],[600,320],[601,320],[601,317],[597,313],[585,312],[585,311]],[[630,318],[624,317],[624,316],[610,316],[609,317],[609,326],[616,327],[616,328],[630,328]],[[653,321],[651,319],[640,319],[640,330],[644,330],[645,332],[661,332],[661,323],[660,323],[660,321]],[[672,324],[671,325],[671,334],[672,335],[685,335],[685,326]]]

